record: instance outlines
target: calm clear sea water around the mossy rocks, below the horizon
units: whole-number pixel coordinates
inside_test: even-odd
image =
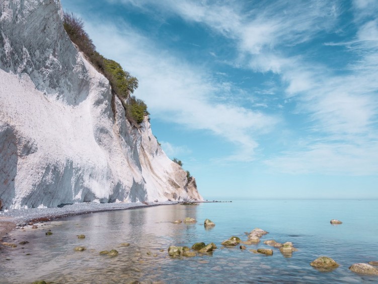
[[[0,250],[0,282],[378,282],[378,276],[359,275],[348,269],[353,263],[378,260],[377,216],[378,201],[266,200],[168,205],[77,216],[38,229],[13,231],[11,239],[5,241],[29,243]],[[193,217],[198,223],[170,223],[185,217]],[[216,224],[213,229],[203,227],[206,218]],[[331,219],[343,224],[332,226]],[[269,232],[259,244],[247,246],[247,250],[239,246],[220,248],[220,243],[231,236],[247,240],[244,232],[256,227]],[[53,235],[45,236],[42,229],[50,229]],[[86,238],[78,239],[79,234]],[[298,251],[290,258],[276,248],[272,256],[249,251],[272,248],[263,244],[269,239],[291,241]],[[170,245],[191,247],[200,241],[214,242],[218,249],[193,258],[168,256]],[[130,246],[121,247],[124,242]],[[74,252],[76,246],[87,250]],[[111,249],[118,250],[119,255],[99,255],[99,251]],[[321,255],[332,257],[340,267],[322,272],[310,266]]]

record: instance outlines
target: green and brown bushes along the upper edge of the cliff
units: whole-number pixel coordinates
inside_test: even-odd
[[[75,17],[72,13],[64,13],[63,26],[71,41],[87,56],[90,62],[110,82],[114,93],[121,100],[125,108],[126,118],[131,122],[141,123],[145,115],[148,115],[146,104],[130,96],[138,88],[138,80],[130,73],[123,70],[122,66],[111,59],[107,59],[96,51],[92,39],[84,30],[82,19]]]

